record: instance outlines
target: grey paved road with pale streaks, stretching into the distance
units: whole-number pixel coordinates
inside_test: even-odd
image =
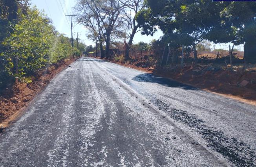
[[[0,166],[255,166],[256,106],[80,58],[0,134]]]

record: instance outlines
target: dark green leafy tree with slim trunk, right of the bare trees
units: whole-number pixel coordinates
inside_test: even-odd
[[[143,28],[143,34],[154,34],[158,26],[168,37],[164,39],[172,45],[192,45],[197,63],[196,45],[207,40],[212,29],[221,27],[220,12],[229,3],[211,0],[148,0],[148,9],[138,13],[137,21]],[[213,35],[211,37],[211,40],[215,40]]]

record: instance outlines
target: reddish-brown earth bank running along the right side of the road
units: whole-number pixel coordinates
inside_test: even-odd
[[[256,105],[256,72],[238,72],[219,68],[218,65],[199,64],[183,68],[171,66],[145,67],[144,63],[120,63],[108,60],[129,68],[152,73],[161,77],[168,77],[172,80],[185,83],[210,92],[218,93],[225,97],[236,99],[248,104]],[[143,66],[143,67],[142,67]]]

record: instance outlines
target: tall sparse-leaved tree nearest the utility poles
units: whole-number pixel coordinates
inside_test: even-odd
[[[95,19],[93,27],[97,25],[99,30],[95,32],[99,36],[101,34],[106,43],[106,58],[110,56],[111,36],[124,32],[123,8],[119,0],[79,0],[76,4],[76,9],[82,13],[81,17]]]

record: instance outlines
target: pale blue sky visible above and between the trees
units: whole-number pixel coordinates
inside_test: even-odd
[[[65,16],[65,14],[74,13],[73,7],[76,4],[76,0],[31,0],[31,6],[36,5],[36,7],[44,11],[45,14],[48,15],[49,18],[53,21],[53,25],[60,33],[66,34],[69,38],[71,38],[71,25],[70,25],[70,16]],[[83,41],[86,45],[95,45],[93,41],[88,40],[86,38],[86,28],[82,25],[79,25],[75,22],[75,18],[73,20],[73,34],[75,32],[80,32],[81,36],[79,38],[80,41]],[[140,32],[137,32],[133,38],[133,43],[139,43],[140,41],[149,42],[153,39],[158,40],[163,33],[158,30],[154,36],[146,36],[141,35]],[[76,37],[73,36],[75,39]],[[212,43],[212,47],[213,47]],[[216,48],[222,48],[225,50],[229,49],[229,45],[232,46],[232,43],[222,43],[216,44]],[[243,45],[235,46],[234,48],[243,51]]]

